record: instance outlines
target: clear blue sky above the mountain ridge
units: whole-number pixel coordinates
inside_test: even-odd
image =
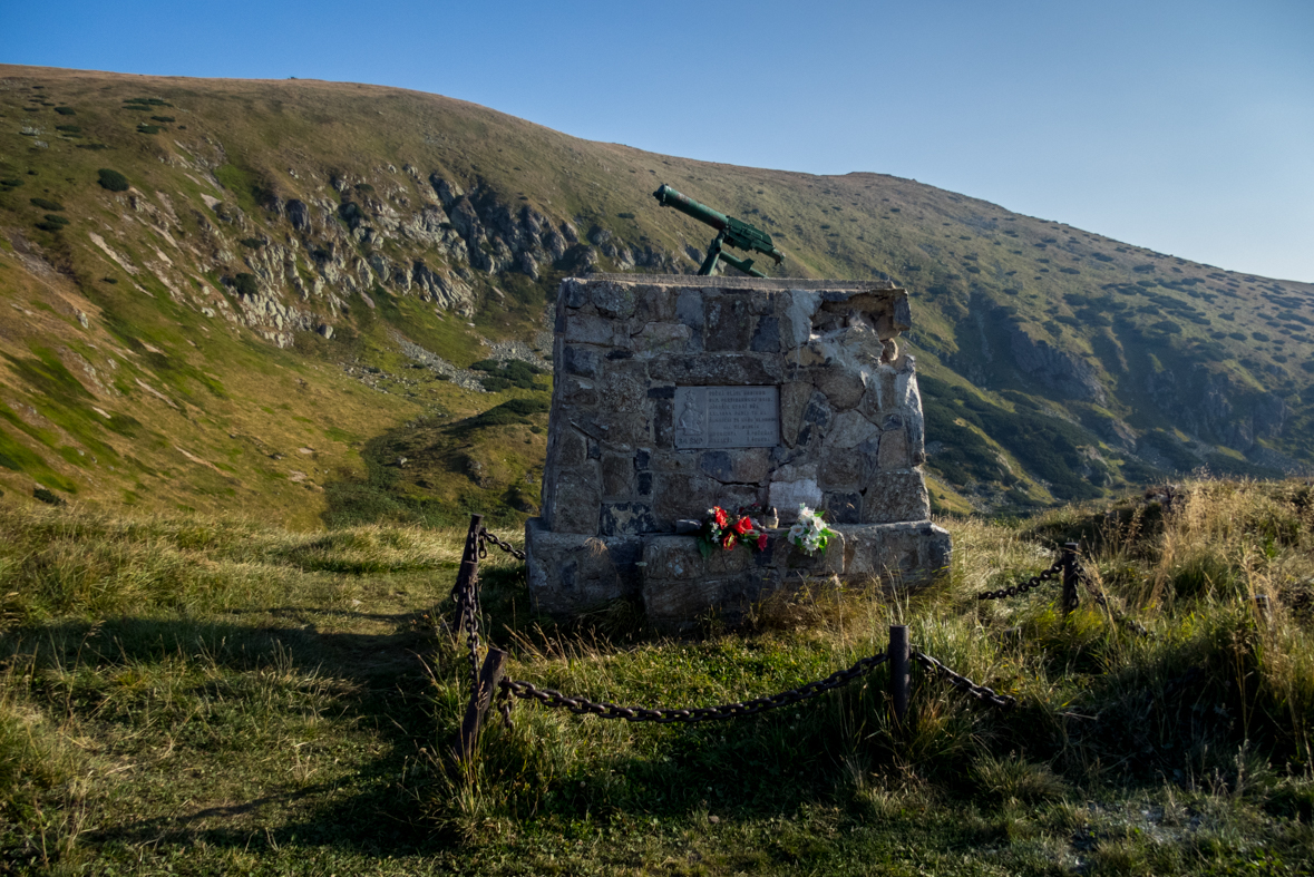
[[[0,60],[436,92],[1314,282],[1314,1],[7,3]]]

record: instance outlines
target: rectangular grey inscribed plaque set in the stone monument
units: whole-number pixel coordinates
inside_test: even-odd
[[[779,387],[675,387],[677,448],[774,448]]]

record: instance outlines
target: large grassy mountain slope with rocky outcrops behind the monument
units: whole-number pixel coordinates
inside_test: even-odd
[[[692,272],[711,239],[660,182],[769,231],[779,273],[909,289],[942,508],[1314,462],[1307,284],[432,95],[11,66],[0,490],[302,525],[530,513],[560,278]]]

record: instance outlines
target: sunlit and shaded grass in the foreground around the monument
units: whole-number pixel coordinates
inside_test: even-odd
[[[536,618],[494,551],[485,630],[514,677],[690,706],[825,676],[907,622],[1017,709],[915,672],[892,729],[884,668],[694,727],[518,705],[461,773],[463,533],[0,509],[0,872],[1307,872],[1309,484],[945,524],[954,566],[916,593],[819,582],[682,639],[624,605]],[[1070,538],[1117,614],[1087,596],[1063,620],[1056,586],[974,599]]]

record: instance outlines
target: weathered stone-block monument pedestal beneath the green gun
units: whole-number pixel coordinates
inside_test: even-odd
[[[949,566],[929,520],[921,396],[888,281],[653,274],[562,281],[530,591],[555,614],[641,597],[650,621],[736,617],[809,576],[912,583]],[[787,537],[825,509],[829,549]],[[699,553],[677,521],[775,508],[769,545]],[[754,512],[754,519],[758,515]]]

